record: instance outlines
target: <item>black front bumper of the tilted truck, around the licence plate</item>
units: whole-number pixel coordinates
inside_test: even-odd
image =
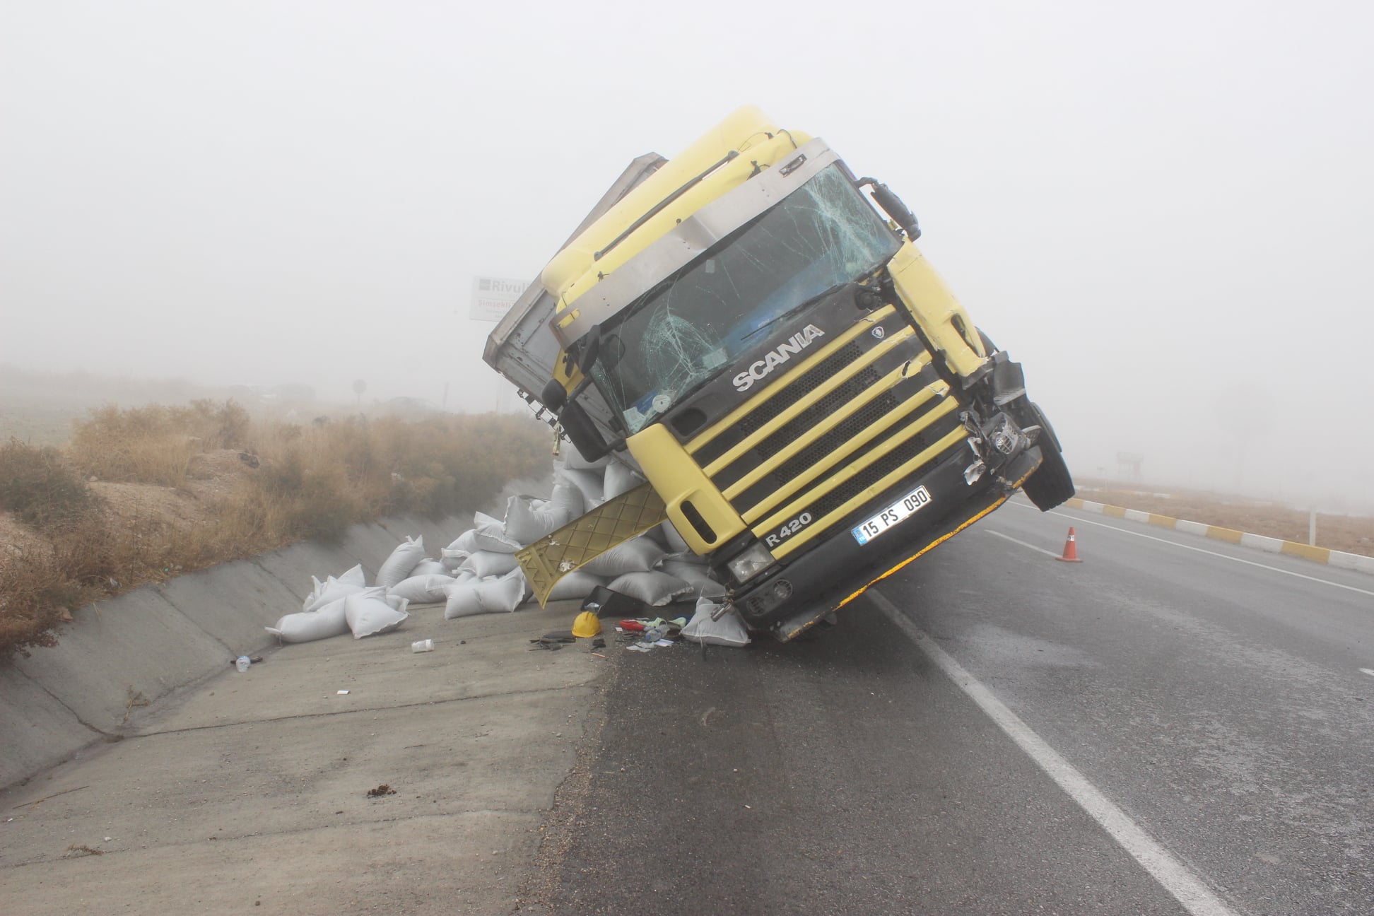
[[[1039,446],[1030,446],[971,486],[965,481],[969,459],[967,449],[955,450],[925,475],[878,494],[813,547],[736,589],[735,608],[750,629],[768,630],[782,641],[797,637],[877,581],[1002,505],[1040,466],[1041,455]],[[916,486],[930,493],[929,505],[868,544],[855,540],[853,527]]]

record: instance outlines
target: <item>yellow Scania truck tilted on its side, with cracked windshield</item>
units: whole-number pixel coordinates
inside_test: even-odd
[[[647,481],[521,552],[534,592],[668,520],[787,641],[1002,505],[1074,494],[1018,363],[885,183],[742,107],[635,159],[485,361]]]

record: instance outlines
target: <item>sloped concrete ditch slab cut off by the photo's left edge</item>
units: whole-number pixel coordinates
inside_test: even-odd
[[[18,669],[0,665],[0,786],[60,764],[100,737]],[[3,820],[3,818],[0,818]]]

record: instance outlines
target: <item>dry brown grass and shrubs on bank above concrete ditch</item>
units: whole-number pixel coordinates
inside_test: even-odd
[[[471,509],[544,472],[548,446],[548,427],[528,417],[298,426],[210,401],[100,408],[66,453],[11,441],[0,508],[43,540],[10,538],[0,553],[0,658],[54,644],[69,608],[144,582],[382,515]]]

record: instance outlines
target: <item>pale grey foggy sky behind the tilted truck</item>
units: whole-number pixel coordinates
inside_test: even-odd
[[[464,5],[4,3],[0,363],[513,409],[471,277],[753,102],[905,198],[1077,474],[1374,501],[1374,7]]]

